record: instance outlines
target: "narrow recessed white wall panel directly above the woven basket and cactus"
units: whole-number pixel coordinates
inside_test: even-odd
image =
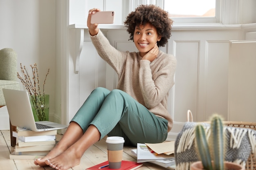
[[[228,41],[206,42],[206,92],[203,120],[209,119],[213,113],[223,115],[227,120],[228,47]]]

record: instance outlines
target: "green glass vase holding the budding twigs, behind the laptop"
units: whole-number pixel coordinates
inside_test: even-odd
[[[31,95],[30,104],[35,121],[49,121],[49,95]]]

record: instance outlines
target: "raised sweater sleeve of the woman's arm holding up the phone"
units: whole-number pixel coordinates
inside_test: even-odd
[[[90,37],[99,56],[120,75],[124,63],[126,62],[128,52],[121,52],[115,49],[100,29],[97,35],[90,35]]]

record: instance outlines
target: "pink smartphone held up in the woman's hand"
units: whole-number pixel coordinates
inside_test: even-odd
[[[91,24],[113,24],[115,11],[98,11],[92,14]]]

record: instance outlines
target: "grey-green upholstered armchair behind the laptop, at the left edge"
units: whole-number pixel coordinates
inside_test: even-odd
[[[17,53],[9,48],[0,50],[0,108],[5,106],[3,88],[20,90],[20,83],[17,81]],[[10,121],[11,146],[16,145],[16,137],[12,136],[13,130],[16,127]]]

